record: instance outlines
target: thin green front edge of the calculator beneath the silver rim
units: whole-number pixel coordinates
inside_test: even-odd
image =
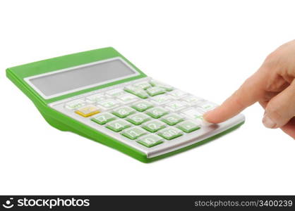
[[[229,132],[233,131],[234,129],[237,129],[239,127],[241,127],[241,125],[245,123],[245,121],[243,122],[240,122],[239,124],[236,124],[234,125],[233,127],[230,127],[229,129],[226,129],[224,130],[223,132],[220,132],[219,134],[215,134],[214,136],[210,136],[209,138],[207,139],[204,139],[202,141],[198,141],[197,143],[193,143],[189,146],[185,146],[183,148],[179,148],[177,149],[176,151],[171,151],[169,153],[165,153],[165,154],[162,154],[162,155],[158,155],[158,156],[155,156],[155,157],[152,157],[152,158],[145,158],[145,159],[140,159],[141,162],[145,162],[145,163],[148,163],[148,162],[154,162],[156,160],[160,160],[160,159],[163,159],[163,158],[167,158],[169,156],[172,156],[172,155],[176,155],[178,153],[182,153],[184,151],[188,151],[190,150],[191,148],[195,148],[197,146],[200,146],[200,145],[203,145],[204,143],[207,143],[207,142],[210,142],[214,139],[217,139],[219,138],[220,136],[223,136],[225,134],[228,134]],[[139,159],[138,159],[139,160]]]

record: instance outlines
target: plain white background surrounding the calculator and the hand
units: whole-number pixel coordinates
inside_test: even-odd
[[[113,46],[140,70],[222,103],[295,37],[294,1],[1,1],[1,194],[295,194],[295,141],[240,129],[144,164],[49,126],[5,69]]]

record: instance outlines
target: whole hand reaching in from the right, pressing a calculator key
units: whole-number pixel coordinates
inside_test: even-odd
[[[263,65],[221,106],[204,115],[207,122],[219,123],[259,102],[265,109],[263,124],[281,128],[295,139],[295,40],[270,53]]]

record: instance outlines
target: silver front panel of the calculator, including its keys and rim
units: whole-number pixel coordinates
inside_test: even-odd
[[[150,77],[56,101],[50,107],[153,158],[224,132],[243,115],[209,124],[217,104]]]

